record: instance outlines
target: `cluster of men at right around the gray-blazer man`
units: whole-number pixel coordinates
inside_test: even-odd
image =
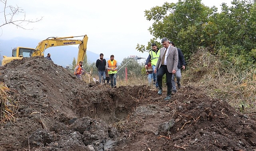
[[[152,82],[156,88],[159,88],[158,94],[162,95],[163,89],[163,75],[166,75],[167,97],[165,101],[171,99],[171,93],[176,93],[175,76],[177,79],[177,86],[181,88],[181,68],[185,69],[186,62],[181,49],[176,48],[173,42],[165,37],[161,40],[163,47],[157,48],[153,43],[152,50],[145,62],[145,68],[148,75],[149,84]]]

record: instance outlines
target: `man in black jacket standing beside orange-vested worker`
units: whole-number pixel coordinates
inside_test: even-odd
[[[99,83],[104,83],[106,79],[106,72],[105,72],[106,60],[103,58],[103,54],[99,54],[99,59],[96,61],[96,67],[98,68],[99,72]],[[103,79],[101,80],[101,77]]]

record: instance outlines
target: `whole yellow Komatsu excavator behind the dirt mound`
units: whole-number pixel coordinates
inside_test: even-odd
[[[83,37],[82,40],[72,40],[74,37]],[[78,45],[79,50],[77,55],[77,64],[79,61],[83,61],[86,49],[87,49],[87,35],[84,36],[70,36],[70,37],[49,37],[46,40],[38,43],[36,48],[17,47],[12,50],[12,57],[3,56],[2,66],[11,62],[14,59],[22,59],[23,57],[30,56],[44,56],[44,50],[52,46],[66,46],[66,45]]]

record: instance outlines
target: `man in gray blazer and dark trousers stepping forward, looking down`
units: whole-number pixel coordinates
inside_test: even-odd
[[[158,94],[162,94],[163,86],[163,75],[166,75],[166,84],[167,84],[167,97],[165,101],[171,99],[172,93],[172,76],[177,71],[178,66],[178,50],[176,47],[173,47],[169,44],[169,40],[165,37],[161,40],[163,48],[160,49],[160,56],[157,60],[157,65],[154,72],[157,72],[157,82],[159,86]]]

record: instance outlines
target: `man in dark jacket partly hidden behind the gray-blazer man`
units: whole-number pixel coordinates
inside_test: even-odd
[[[175,46],[173,42],[170,42],[170,45]],[[176,83],[175,83],[175,76],[176,76],[176,79],[177,79],[177,86],[180,89],[181,88],[181,83],[180,83],[180,81],[181,81],[181,68],[184,70],[185,66],[186,66],[184,55],[183,55],[181,49],[177,48],[177,50],[178,50],[178,54],[179,54],[179,56],[178,56],[179,61],[178,61],[178,68],[177,68],[176,74],[173,74],[173,77],[172,77],[172,86],[173,86],[172,92],[173,93],[177,92]]]

